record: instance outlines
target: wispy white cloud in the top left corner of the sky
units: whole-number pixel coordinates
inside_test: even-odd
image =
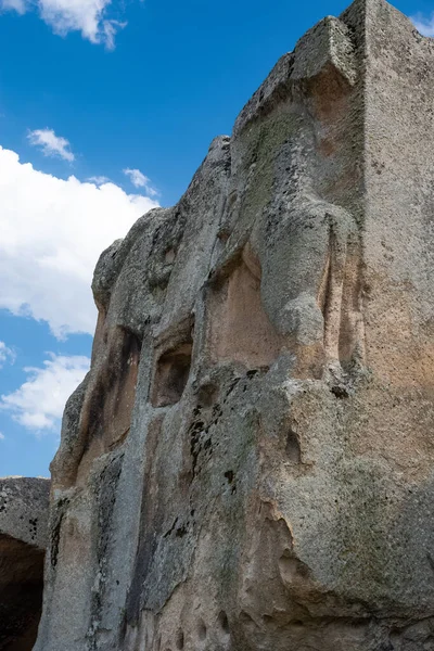
[[[103,43],[113,50],[116,33],[126,23],[107,17],[111,4],[112,0],[0,0],[0,9],[15,10],[20,14],[37,8],[55,34],[80,31],[92,43]]]

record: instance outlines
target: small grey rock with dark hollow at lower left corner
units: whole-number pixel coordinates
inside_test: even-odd
[[[42,609],[48,480],[0,478],[0,650],[30,651]]]

